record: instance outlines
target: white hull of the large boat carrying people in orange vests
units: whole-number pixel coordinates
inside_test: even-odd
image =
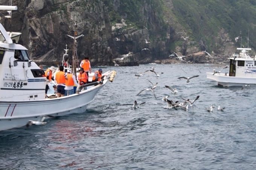
[[[84,113],[97,92],[105,85],[97,85],[79,94],[38,101],[0,102],[0,131],[25,126],[29,120],[43,117]]]

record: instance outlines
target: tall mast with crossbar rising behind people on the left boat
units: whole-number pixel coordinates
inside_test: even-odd
[[[70,38],[74,39],[74,43],[73,43],[73,55],[72,55],[72,71],[73,71],[73,75],[75,75],[76,77],[76,66],[79,66],[79,63],[78,63],[78,57],[77,57],[77,53],[76,53],[76,39],[84,36],[83,34],[77,36],[77,31],[76,31],[76,28],[77,28],[77,25],[76,25],[76,22],[74,24],[74,28],[75,28],[75,31],[74,31],[74,36],[71,36],[71,35],[67,35],[69,36]]]

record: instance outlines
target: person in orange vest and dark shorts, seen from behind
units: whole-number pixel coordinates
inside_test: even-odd
[[[55,80],[57,81],[57,97],[62,97],[65,95],[65,83],[67,80],[67,74],[64,73],[64,67],[59,66],[59,72],[55,75]]]

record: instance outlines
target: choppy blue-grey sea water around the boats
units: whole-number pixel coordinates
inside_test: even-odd
[[[152,66],[164,74],[134,76]],[[206,79],[205,72],[223,66],[102,67],[116,70],[116,78],[86,113],[1,131],[0,169],[256,169],[256,86],[223,88]],[[200,76],[189,83],[178,79],[193,75]],[[148,80],[158,82],[157,99],[152,92],[136,96],[151,86]],[[178,94],[165,85],[176,87]],[[165,109],[166,95],[174,101],[200,98],[184,111]],[[133,110],[134,100],[146,104]],[[205,108],[211,104],[215,110],[209,113]]]

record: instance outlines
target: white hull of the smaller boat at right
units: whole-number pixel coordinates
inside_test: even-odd
[[[216,81],[218,85],[223,87],[256,84],[256,78],[253,77],[233,77],[229,75],[225,76],[223,73],[217,73],[213,75],[212,72],[207,72],[206,76],[208,79]]]

